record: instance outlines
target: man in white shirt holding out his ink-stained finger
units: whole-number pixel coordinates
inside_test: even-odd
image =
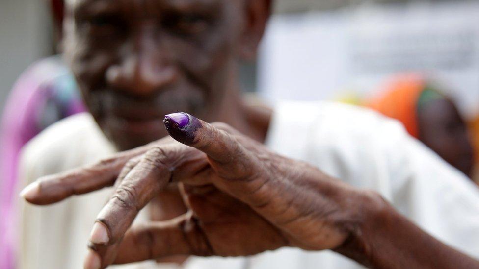
[[[25,180],[45,177],[22,196],[45,205],[115,187],[25,205],[23,268],[77,268],[83,254],[87,269],[176,255],[237,257],[186,268],[479,268],[478,191],[397,122],[242,101],[238,61],[255,54],[269,10],[269,0],[68,3],[66,57],[91,116],[28,145]],[[116,150],[127,151],[84,166]],[[163,221],[134,224],[147,205]]]

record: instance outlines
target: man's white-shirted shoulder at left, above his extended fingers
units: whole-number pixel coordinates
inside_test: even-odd
[[[21,174],[39,177],[94,162],[114,152],[89,113],[54,123],[22,149]]]

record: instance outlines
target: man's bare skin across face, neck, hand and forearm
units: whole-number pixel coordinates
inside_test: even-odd
[[[378,194],[261,144],[270,111],[241,103],[236,66],[254,54],[269,1],[88,2],[69,5],[66,51],[95,119],[120,149],[171,136],[42,178],[22,193],[45,205],[115,185],[94,224],[85,268],[175,255],[246,256],[283,246],[332,249],[377,268],[479,268]],[[102,18],[92,19],[85,8]],[[198,10],[213,10],[202,15],[213,23],[189,17]],[[172,31],[178,13],[188,16]],[[179,25],[193,36],[179,34]],[[117,31],[123,27],[129,30]],[[206,121],[188,115],[186,127],[171,120],[163,125],[163,115],[178,110]],[[206,123],[213,120],[229,125]],[[131,227],[138,211],[168,188],[180,190],[186,214]],[[160,212],[179,206],[176,198],[160,197],[166,198],[157,203]]]

